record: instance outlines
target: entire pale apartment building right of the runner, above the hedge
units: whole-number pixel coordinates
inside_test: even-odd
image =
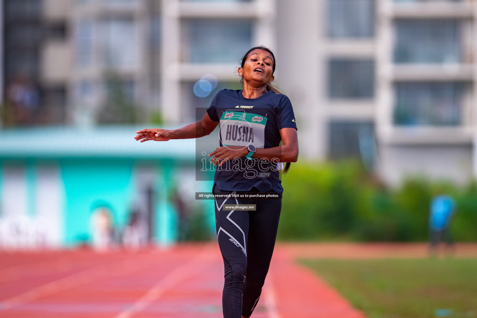
[[[278,8],[283,87],[298,113],[301,153],[361,157],[391,185],[416,174],[458,183],[475,175],[474,1]]]

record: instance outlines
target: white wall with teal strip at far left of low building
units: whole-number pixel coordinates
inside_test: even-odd
[[[62,246],[64,190],[59,169],[4,164],[0,181],[0,248]]]

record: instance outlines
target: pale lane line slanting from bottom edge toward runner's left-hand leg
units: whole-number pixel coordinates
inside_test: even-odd
[[[132,317],[136,312],[146,308],[151,302],[161,297],[167,290],[184,281],[187,277],[198,275],[203,271],[204,267],[208,266],[209,263],[213,261],[213,257],[210,255],[211,249],[206,247],[204,251],[192,260],[181,267],[176,268],[167,274],[166,277],[159,280],[156,285],[149,289],[143,297],[139,298],[134,305],[120,312],[118,315],[114,316],[114,318]]]

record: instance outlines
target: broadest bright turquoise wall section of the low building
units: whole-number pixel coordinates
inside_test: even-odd
[[[134,199],[132,168],[133,161],[85,159],[61,163],[66,246],[90,241],[90,216],[102,203],[111,207],[114,226],[123,228]]]

